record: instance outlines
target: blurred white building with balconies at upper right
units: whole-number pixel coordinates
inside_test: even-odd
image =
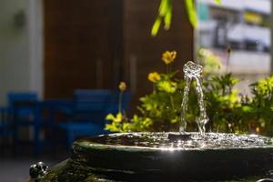
[[[271,72],[271,1],[228,0],[222,5],[210,0],[197,2],[196,46],[221,57],[223,69],[244,79],[238,89],[248,93],[250,83]],[[229,58],[227,47],[232,49]]]

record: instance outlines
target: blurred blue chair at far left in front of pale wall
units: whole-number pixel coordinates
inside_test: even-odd
[[[38,98],[35,93],[25,92],[17,93],[11,92],[7,95],[8,99],[8,112],[10,120],[13,124],[13,140],[15,154],[18,147],[18,130],[21,127],[31,126],[34,128],[34,150],[35,155],[39,152],[40,140],[40,122],[39,114],[40,107],[38,106]]]

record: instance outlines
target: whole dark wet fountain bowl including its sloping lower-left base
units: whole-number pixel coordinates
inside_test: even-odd
[[[122,133],[74,142],[41,181],[255,181],[273,169],[272,139],[207,133]]]

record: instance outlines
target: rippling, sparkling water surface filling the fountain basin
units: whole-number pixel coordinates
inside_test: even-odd
[[[86,142],[126,147],[151,147],[160,149],[213,149],[234,147],[267,147],[272,138],[257,135],[236,135],[223,133],[126,133],[96,136]]]

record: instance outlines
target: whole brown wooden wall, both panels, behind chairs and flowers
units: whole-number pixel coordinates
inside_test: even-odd
[[[184,1],[173,2],[171,29],[151,37],[160,0],[45,0],[45,97],[125,80],[136,103],[152,89],[147,74],[165,70],[163,51],[177,50],[174,67],[182,70],[193,59],[193,29]]]

